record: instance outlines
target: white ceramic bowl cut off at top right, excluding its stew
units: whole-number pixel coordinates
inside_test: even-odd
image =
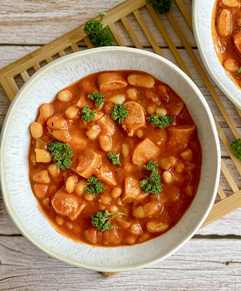
[[[218,60],[211,34],[212,11],[216,0],[193,0],[192,26],[196,44],[206,70],[222,92],[241,109],[241,90]]]

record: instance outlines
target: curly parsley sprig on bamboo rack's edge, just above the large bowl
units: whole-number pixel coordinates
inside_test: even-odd
[[[103,16],[101,21],[90,19],[85,24],[84,32],[88,34],[94,47],[111,46],[112,42],[115,41],[109,27],[102,27],[106,14],[107,13],[99,13],[99,15]]]

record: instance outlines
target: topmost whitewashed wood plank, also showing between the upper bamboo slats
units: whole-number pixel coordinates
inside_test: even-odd
[[[99,12],[107,11],[122,2],[122,0],[82,0],[81,2],[72,0],[66,5],[66,1],[64,0],[3,0],[0,11],[0,43],[15,45],[42,45],[49,43],[62,34],[84,24],[89,19],[96,17]],[[185,0],[184,2],[188,10],[191,11],[190,1]],[[185,28],[191,45],[195,46],[194,37],[175,4],[173,4],[172,11],[178,22]],[[143,17],[147,21],[147,24],[150,25],[149,28],[153,32],[158,44],[166,45],[146,11],[143,11]],[[161,18],[163,19],[165,27],[173,34],[175,44],[181,46],[181,42],[171,28],[169,21],[164,16],[161,16]],[[146,37],[142,33],[139,33],[141,29],[137,21],[131,18],[130,22],[133,29],[137,31],[137,36],[140,38],[142,45],[148,46],[149,43]],[[132,44],[129,37],[124,36],[124,41],[126,45]]]

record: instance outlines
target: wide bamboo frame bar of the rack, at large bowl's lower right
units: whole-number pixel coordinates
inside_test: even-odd
[[[215,203],[201,227],[221,218],[241,206],[241,190]]]

